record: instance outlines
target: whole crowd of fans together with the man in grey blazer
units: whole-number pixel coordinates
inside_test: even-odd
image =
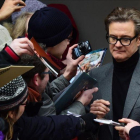
[[[0,68],[34,68],[0,87],[1,140],[140,139],[139,10],[117,7],[108,14],[105,29],[112,62],[90,70],[95,87],[84,90],[60,114],[53,100],[69,86],[84,59],[73,58],[76,26],[66,13],[38,0],[5,0],[0,21],[9,17],[12,23],[0,25]],[[59,77],[38,58],[32,37],[60,66]],[[125,125],[100,124],[95,118]]]

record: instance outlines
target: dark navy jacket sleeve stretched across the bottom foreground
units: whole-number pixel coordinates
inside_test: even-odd
[[[67,115],[22,116],[14,125],[12,140],[70,140],[82,132],[80,119]]]

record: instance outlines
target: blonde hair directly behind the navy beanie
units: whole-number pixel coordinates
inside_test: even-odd
[[[27,20],[31,18],[32,15],[33,13],[26,12],[17,17],[11,33],[13,39],[18,38],[19,36],[25,36],[28,30],[26,28]]]

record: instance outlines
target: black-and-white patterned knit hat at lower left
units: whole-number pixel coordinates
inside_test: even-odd
[[[0,111],[12,109],[27,98],[27,85],[18,76],[0,88]]]

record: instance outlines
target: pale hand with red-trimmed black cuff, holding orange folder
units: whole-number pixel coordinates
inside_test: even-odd
[[[34,54],[33,44],[28,38],[14,39],[10,44],[10,47],[19,56],[22,56],[22,54],[29,54],[29,55]]]

